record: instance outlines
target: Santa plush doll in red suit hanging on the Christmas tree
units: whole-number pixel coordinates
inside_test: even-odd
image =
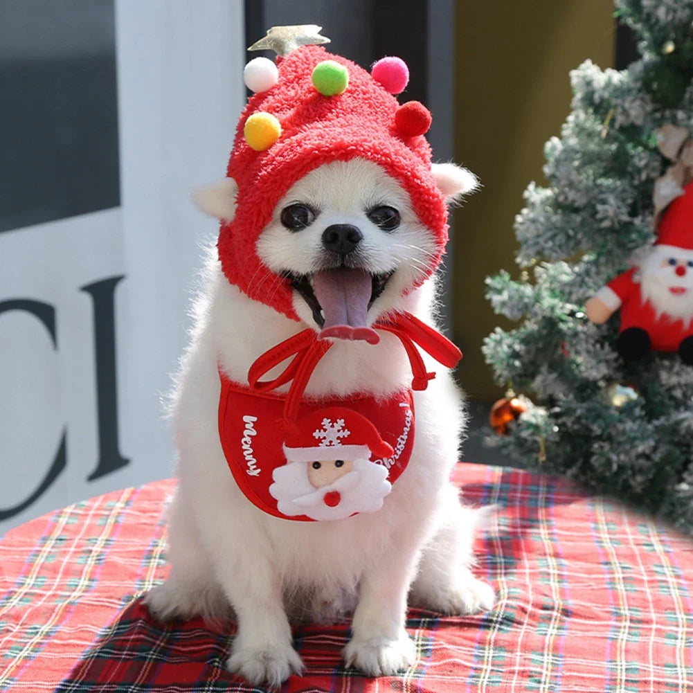
[[[655,245],[630,270],[587,301],[597,324],[621,311],[617,350],[625,360],[678,352],[693,365],[693,182],[660,221]]]

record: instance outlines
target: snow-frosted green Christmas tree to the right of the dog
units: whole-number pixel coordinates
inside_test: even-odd
[[[486,360],[498,383],[527,398],[496,441],[530,468],[693,532],[693,365],[684,347],[663,351],[654,331],[624,335],[626,280],[603,288],[635,267],[629,287],[647,303],[645,270],[657,255],[652,272],[678,277],[662,290],[670,302],[687,297],[693,319],[693,207],[682,202],[685,190],[693,196],[693,0],[616,8],[642,57],[624,71],[587,61],[571,73],[572,113],[545,146],[549,186],[530,184],[516,218],[520,276],[487,282],[495,311],[519,324],[486,338]],[[657,243],[676,205],[677,242],[667,231]],[[685,310],[655,304],[650,322],[693,326]]]

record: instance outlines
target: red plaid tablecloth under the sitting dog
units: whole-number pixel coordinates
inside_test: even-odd
[[[348,623],[299,625],[286,692],[693,691],[693,541],[554,477],[459,465],[468,500],[501,509],[477,542],[498,604],[410,612],[416,664],[344,669]],[[174,482],[56,511],[0,541],[0,690],[251,691],[224,669],[233,626],[164,626],[138,596],[164,578]]]

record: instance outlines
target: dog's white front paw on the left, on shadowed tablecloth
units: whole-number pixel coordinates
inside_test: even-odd
[[[279,687],[291,674],[303,673],[304,663],[299,653],[291,647],[236,647],[231,648],[227,669],[243,676],[252,685],[267,684]]]

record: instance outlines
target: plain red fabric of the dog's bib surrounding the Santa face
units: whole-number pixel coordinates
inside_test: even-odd
[[[282,449],[286,438],[286,426],[283,425],[286,396],[255,394],[233,383],[224,374],[220,374],[220,378],[219,436],[238,488],[250,502],[270,515],[285,520],[314,520],[306,515],[288,516],[281,513],[277,500],[270,494],[274,470],[287,462]],[[365,416],[378,429],[380,437],[392,446],[392,457],[371,459],[371,462],[384,466],[387,481],[393,484],[407,468],[414,446],[412,391],[406,390],[386,401],[367,396],[304,399],[299,405],[299,417],[333,406],[346,406]]]

